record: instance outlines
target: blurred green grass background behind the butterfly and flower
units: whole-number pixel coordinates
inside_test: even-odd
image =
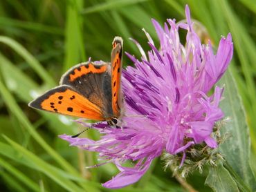
[[[185,4],[217,45],[231,32],[235,52],[230,65],[250,128],[251,162],[256,160],[256,3],[254,0],[3,0],[0,1],[0,189],[1,191],[110,191],[101,186],[118,171],[112,164],[95,169],[95,153],[68,146],[57,135],[82,130],[67,117],[28,108],[33,96],[58,84],[74,64],[110,60],[116,35],[125,51],[140,56],[129,37],[149,50],[145,28],[156,40],[151,18],[163,26],[167,18],[185,19]],[[124,65],[131,61],[124,58]],[[84,137],[97,139],[95,131]],[[256,164],[251,164],[256,173]],[[198,191],[205,175],[187,182]],[[156,160],[138,183],[116,191],[185,191]]]

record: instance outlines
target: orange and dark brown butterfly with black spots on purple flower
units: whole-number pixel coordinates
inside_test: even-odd
[[[70,68],[60,86],[48,90],[28,106],[53,113],[118,124],[122,108],[122,38],[112,43],[111,63],[88,61]]]

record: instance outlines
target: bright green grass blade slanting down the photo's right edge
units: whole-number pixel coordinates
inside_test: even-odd
[[[234,39],[234,47],[237,58],[240,61],[241,66],[241,79],[244,80],[242,86],[246,89],[241,96],[244,99],[244,106],[248,115],[248,124],[253,131],[253,140],[255,137],[255,115],[256,115],[256,86],[255,86],[255,44],[253,44],[253,37],[250,37],[248,28],[250,26],[244,26],[244,21],[232,10],[230,3],[226,0],[219,0],[219,8],[222,9],[223,17],[226,18],[228,28]],[[236,75],[237,77],[238,75]],[[239,76],[238,76],[239,77]],[[239,84],[239,90],[242,88]],[[256,152],[256,142],[253,142],[253,149]]]

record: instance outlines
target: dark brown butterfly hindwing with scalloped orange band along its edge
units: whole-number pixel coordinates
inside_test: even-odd
[[[111,95],[111,65],[104,62],[87,62],[68,70],[60,84],[71,86],[90,102],[102,109],[105,119],[113,116]]]

